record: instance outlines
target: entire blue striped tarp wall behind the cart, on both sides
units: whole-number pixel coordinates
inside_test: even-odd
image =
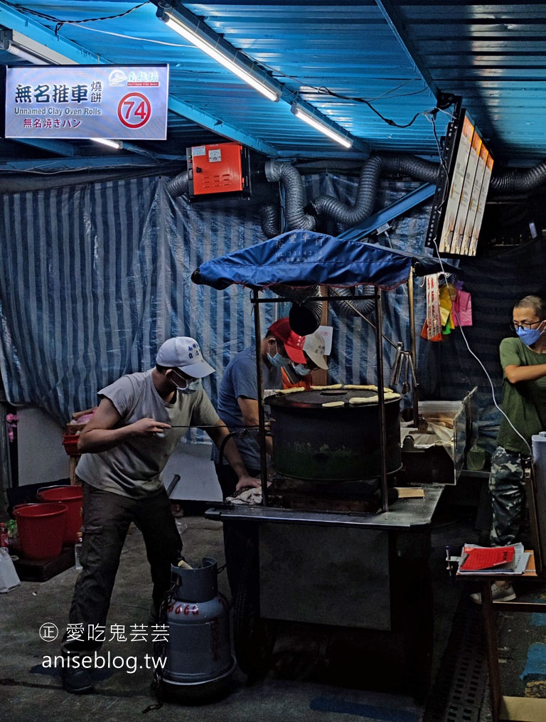
[[[201,343],[218,372],[205,382],[216,400],[222,369],[253,341],[250,292],[240,287],[219,292],[193,284],[190,275],[209,258],[264,240],[259,209],[245,203],[227,209],[220,203],[188,204],[169,196],[168,181],[157,176],[1,196],[0,370],[10,404],[40,406],[64,424],[72,412],[93,406],[105,384],[154,365],[157,348],[175,335]],[[307,199],[327,193],[348,204],[354,202],[357,182],[331,173],[304,177]],[[376,209],[418,185],[380,183]],[[423,253],[429,211],[420,206],[398,219],[380,242]],[[476,319],[467,336],[497,388],[496,348],[511,303],[528,292],[533,274],[538,280],[543,268],[542,256],[529,255],[527,248],[516,256],[464,264],[464,287],[472,293]],[[516,274],[520,256],[531,260]],[[426,314],[419,284],[417,279],[417,332]],[[266,304],[260,312],[265,331],[288,308]],[[340,318],[334,310],[330,323],[331,378],[377,381],[369,325],[361,318]],[[405,287],[384,293],[384,334],[409,349]],[[384,352],[388,380],[394,349],[386,343]],[[478,384],[483,416],[494,422],[490,388],[459,331],[442,343],[418,339],[418,371],[422,398],[462,399]]]

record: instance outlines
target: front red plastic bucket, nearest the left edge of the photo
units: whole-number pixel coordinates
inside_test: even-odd
[[[19,504],[13,509],[19,544],[27,559],[53,559],[63,549],[66,504]]]

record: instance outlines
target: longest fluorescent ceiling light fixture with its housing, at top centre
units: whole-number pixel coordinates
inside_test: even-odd
[[[282,88],[280,85],[270,79],[252,61],[245,61],[241,53],[237,53],[235,48],[222,41],[219,35],[216,35],[197,18],[193,19],[190,14],[182,14],[181,9],[176,12],[173,9],[162,10],[158,12],[158,17],[162,19],[165,25],[182,35],[182,38],[189,40],[203,53],[216,60],[224,68],[232,71],[232,73],[267,97],[268,100],[273,100],[276,103],[281,97]]]

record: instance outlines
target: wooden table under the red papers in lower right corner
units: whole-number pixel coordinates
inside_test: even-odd
[[[534,564],[534,552],[527,562],[527,569],[523,574],[498,575],[498,578],[510,582],[523,579],[537,579]],[[457,578],[478,581],[481,584],[483,622],[485,625],[485,638],[488,652],[489,686],[491,691],[491,715],[493,722],[509,720],[512,722],[545,722],[546,698],[537,697],[507,697],[502,694],[501,674],[498,664],[498,633],[495,615],[496,612],[544,612],[544,604],[521,601],[493,601],[491,584],[495,577],[490,574],[459,574]]]

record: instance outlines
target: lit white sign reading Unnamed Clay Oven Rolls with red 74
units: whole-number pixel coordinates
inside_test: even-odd
[[[169,66],[6,69],[6,138],[165,140]]]

